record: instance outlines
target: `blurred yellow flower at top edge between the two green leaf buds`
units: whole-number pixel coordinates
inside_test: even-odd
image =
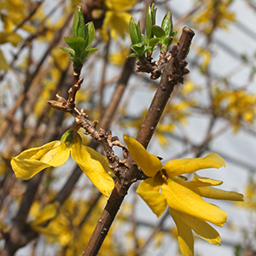
[[[109,29],[111,38],[117,40],[119,35],[125,38],[125,32],[128,32],[129,21],[131,15],[126,10],[129,10],[137,0],[105,0],[104,4],[107,8],[105,19],[103,20],[102,34],[106,35]]]

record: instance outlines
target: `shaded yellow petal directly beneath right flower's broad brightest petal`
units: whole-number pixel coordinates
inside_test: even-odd
[[[198,236],[201,236],[202,239],[220,246],[220,236],[217,230],[214,230],[211,225],[207,222],[194,218],[182,212],[178,212],[179,217],[187,224]]]

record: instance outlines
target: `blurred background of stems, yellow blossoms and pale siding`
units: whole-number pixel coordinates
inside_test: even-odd
[[[131,15],[141,20],[150,1],[32,1],[0,2],[0,252],[24,201],[26,223],[37,235],[17,248],[21,255],[81,255],[107,199],[99,195],[73,160],[46,170],[34,181],[21,181],[11,170],[11,157],[26,148],[58,140],[73,117],[47,104],[55,94],[67,98],[73,83],[68,55],[59,49],[72,33],[73,13],[81,4],[84,20],[92,20],[99,50],[85,62],[84,83],[76,98],[90,120],[98,119],[122,141],[136,137],[160,79],[136,73],[128,59]],[[172,13],[177,42],[183,26],[195,31],[187,61],[190,73],[178,84],[148,151],[163,158],[220,154],[226,167],[200,171],[224,181],[221,189],[245,195],[245,202],[211,201],[228,213],[216,229],[222,246],[195,239],[195,255],[256,254],[256,1],[155,1],[156,24]],[[157,50],[153,55],[158,60]],[[120,88],[122,90],[120,90]],[[113,96],[117,108],[106,118]],[[83,136],[83,131],[81,131]],[[90,143],[90,137],[83,136]],[[98,148],[101,150],[101,148]],[[121,150],[116,154],[121,157]],[[70,186],[67,186],[70,184]],[[160,219],[135,193],[126,196],[99,255],[179,255],[177,231],[168,214]],[[39,225],[42,209],[51,201],[61,207],[49,224]],[[42,222],[40,223],[42,224]]]

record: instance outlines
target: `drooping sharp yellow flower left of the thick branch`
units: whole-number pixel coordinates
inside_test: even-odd
[[[11,160],[11,166],[16,177],[29,179],[47,167],[63,165],[70,154],[96,188],[109,196],[114,183],[108,160],[94,149],[84,146],[79,134],[72,130],[64,133],[61,141],[23,151]]]

